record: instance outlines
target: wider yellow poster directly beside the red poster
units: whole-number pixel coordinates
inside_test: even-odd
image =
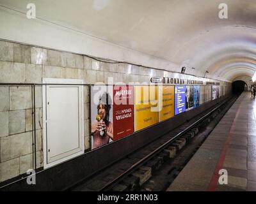
[[[134,87],[134,131],[158,122],[157,86]]]

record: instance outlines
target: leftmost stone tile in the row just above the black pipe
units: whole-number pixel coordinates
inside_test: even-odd
[[[1,83],[25,83],[26,64],[0,61]]]

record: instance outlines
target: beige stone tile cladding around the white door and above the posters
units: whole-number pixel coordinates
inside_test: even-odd
[[[83,79],[97,82],[147,82],[163,71],[131,64],[100,62],[72,54],[0,40],[0,83],[41,84],[42,78]],[[154,74],[154,76],[152,75]],[[108,77],[113,77],[113,82]],[[84,86],[84,147],[90,149],[90,88]],[[0,85],[0,182],[35,166],[33,153],[33,88],[31,85]],[[36,167],[43,166],[42,85],[35,87]]]

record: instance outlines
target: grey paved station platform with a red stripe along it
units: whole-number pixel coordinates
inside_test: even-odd
[[[220,184],[221,169],[228,184]],[[243,92],[167,191],[256,191],[256,101]]]

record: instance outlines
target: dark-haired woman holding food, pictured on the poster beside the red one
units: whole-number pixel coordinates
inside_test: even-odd
[[[109,121],[110,108],[108,93],[104,92],[99,98],[96,120],[92,122],[92,149],[108,144],[109,138],[113,140],[113,123]]]

